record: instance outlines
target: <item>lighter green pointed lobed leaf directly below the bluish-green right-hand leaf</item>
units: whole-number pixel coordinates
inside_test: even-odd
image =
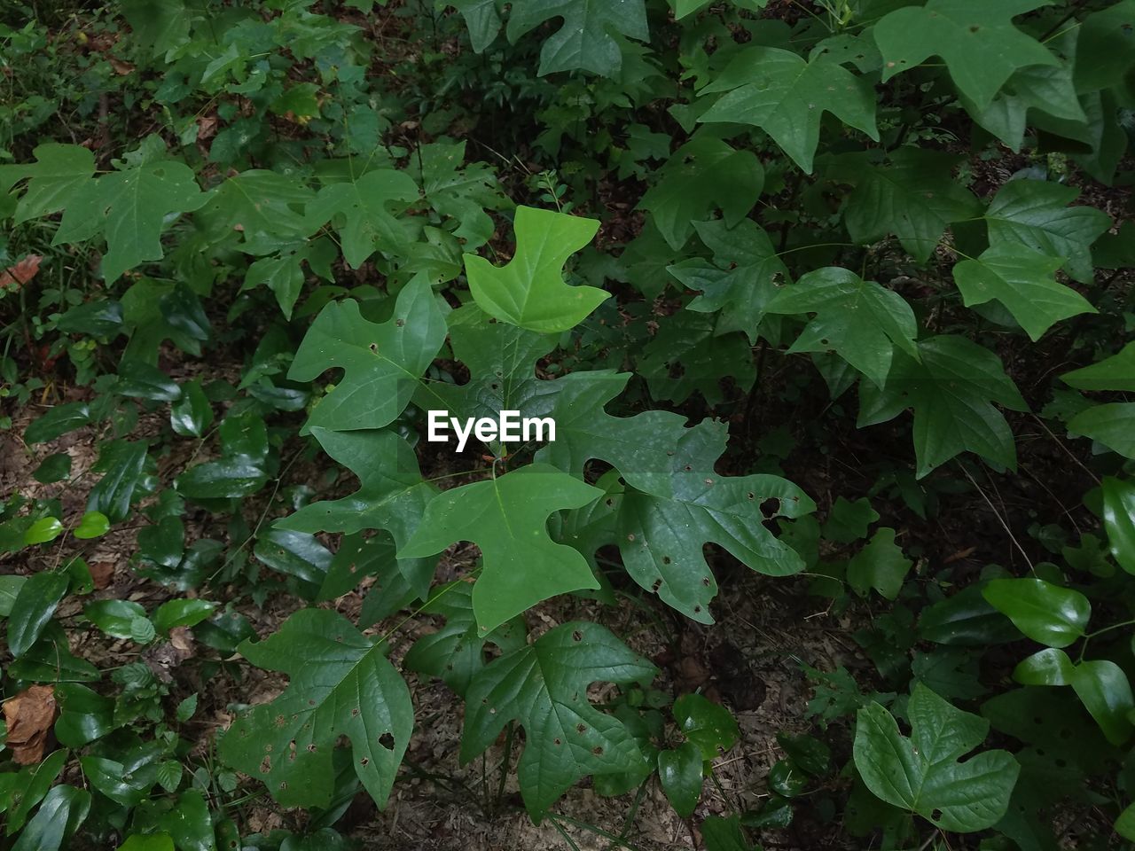
[[[994,244],[980,258],[953,267],[953,280],[967,307],[997,298],[1035,342],[1061,319],[1096,310],[1079,293],[1053,278],[1061,258],[1025,245]]]

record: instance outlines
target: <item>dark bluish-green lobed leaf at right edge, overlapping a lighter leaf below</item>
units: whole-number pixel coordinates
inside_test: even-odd
[[[1010,180],[985,211],[990,244],[1019,244],[1065,258],[1065,270],[1081,284],[1092,281],[1091,245],[1111,218],[1091,207],[1068,207],[1079,189],[1046,180]]]

